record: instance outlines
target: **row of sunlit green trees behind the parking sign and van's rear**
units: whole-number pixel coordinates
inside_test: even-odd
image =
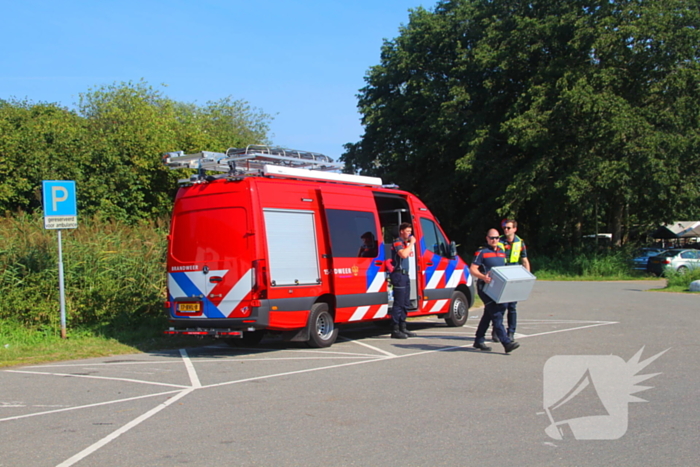
[[[143,81],[91,89],[77,111],[0,100],[0,212],[32,212],[42,180],[70,179],[81,216],[163,216],[181,176],[163,166],[164,152],[268,143],[270,120],[243,100],[180,103]]]

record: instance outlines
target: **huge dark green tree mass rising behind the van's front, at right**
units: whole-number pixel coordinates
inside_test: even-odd
[[[368,72],[343,159],[472,244],[506,216],[548,248],[697,217],[699,26],[680,0],[416,9]]]

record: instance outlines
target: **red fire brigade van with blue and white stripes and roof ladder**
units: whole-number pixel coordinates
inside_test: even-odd
[[[326,347],[339,325],[389,319],[387,259],[402,222],[417,239],[409,317],[466,322],[469,268],[414,195],[339,173],[321,154],[266,146],[168,153],[164,163],[197,169],[173,208],[166,333],[252,345],[280,332]]]

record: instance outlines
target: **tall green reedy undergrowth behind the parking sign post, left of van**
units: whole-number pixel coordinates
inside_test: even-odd
[[[162,314],[165,222],[127,225],[80,219],[63,230],[68,326],[137,326]],[[38,215],[0,218],[0,319],[60,327],[58,242]]]

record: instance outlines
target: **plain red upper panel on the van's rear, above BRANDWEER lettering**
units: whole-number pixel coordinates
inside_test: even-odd
[[[247,248],[247,231],[240,207],[181,212],[173,219],[171,252],[183,263],[231,259]]]

